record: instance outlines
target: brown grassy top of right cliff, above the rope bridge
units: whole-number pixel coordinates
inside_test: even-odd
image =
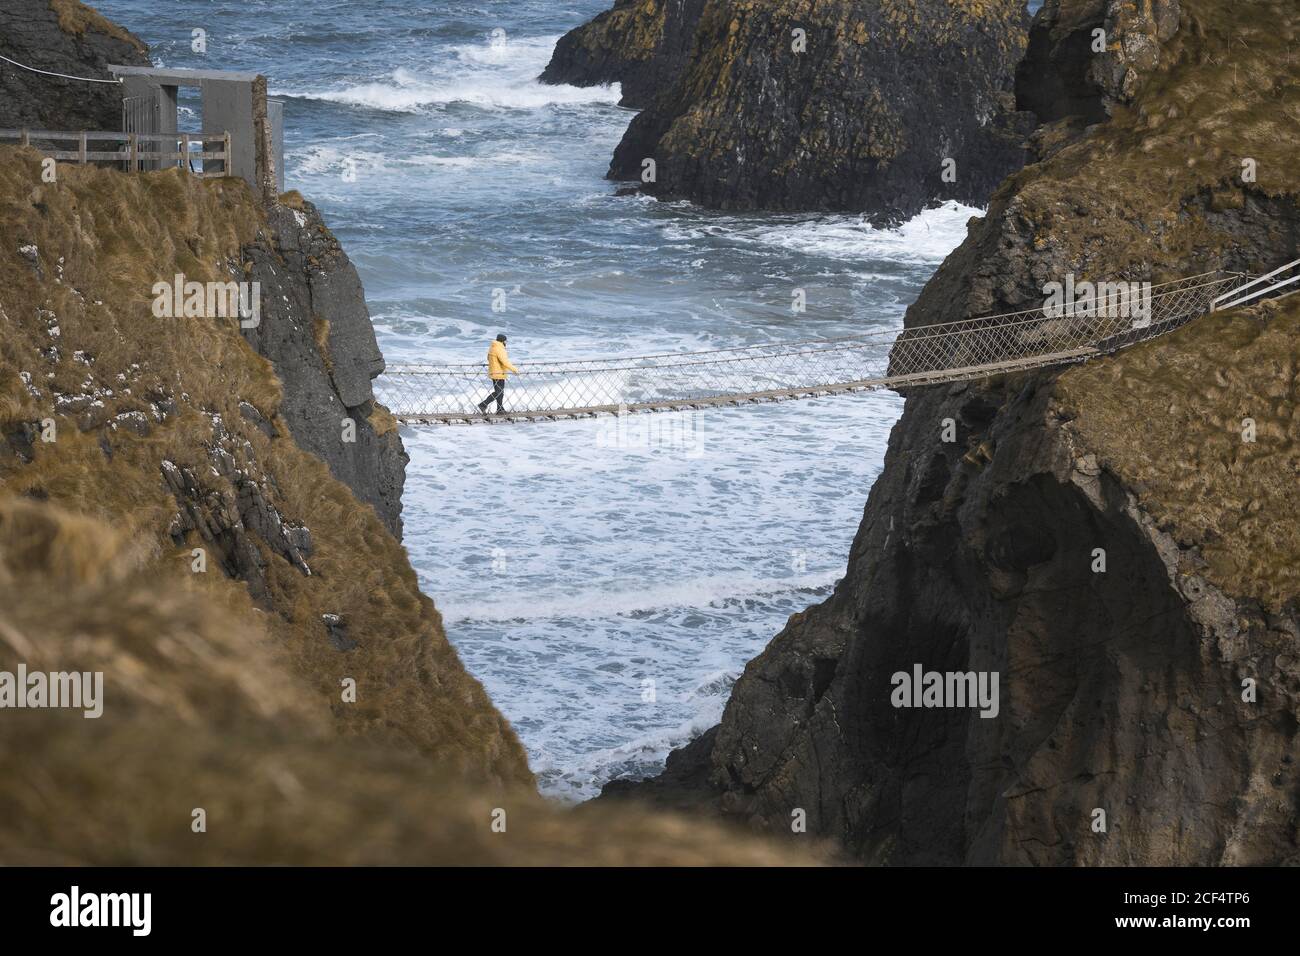
[[[1092,278],[1212,268],[1234,235],[1190,204],[1231,212],[1248,196],[1300,198],[1297,29],[1290,0],[1182,0],[1179,30],[1135,101],[1010,177],[996,199],[1014,196],[1037,250]],[[1243,178],[1248,161],[1253,182]]]

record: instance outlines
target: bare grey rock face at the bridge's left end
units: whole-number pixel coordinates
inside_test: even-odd
[[[408,458],[396,421],[370,390],[384,355],[361,280],[311,203],[290,194],[266,217],[269,233],[243,251],[246,278],[261,284],[263,302],[261,323],[244,338],[283,382],[280,411],[294,440],[400,538]]]

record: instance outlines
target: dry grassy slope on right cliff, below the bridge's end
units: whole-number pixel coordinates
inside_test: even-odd
[[[1210,583],[1277,611],[1300,598],[1297,376],[1292,297],[1071,369],[1058,394],[1084,446],[1200,551]]]

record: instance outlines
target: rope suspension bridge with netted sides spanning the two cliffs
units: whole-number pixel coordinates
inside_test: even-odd
[[[738,346],[699,352],[545,363],[521,362],[499,414],[478,410],[484,363],[391,365],[376,394],[407,424],[558,421],[685,411],[906,389],[1086,362],[1166,334],[1192,319],[1244,304],[1300,281],[1278,278],[1300,260],[1244,281],[1205,273],[1141,291],[1098,284],[1069,306],[871,332],[850,338]],[[1292,290],[1295,291],[1295,290]]]

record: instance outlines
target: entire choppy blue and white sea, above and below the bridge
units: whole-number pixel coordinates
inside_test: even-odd
[[[619,90],[534,79],[608,5],[98,3],[160,65],[269,77],[286,189],[356,263],[389,362],[482,360],[498,332],[519,362],[898,328],[979,211],[879,230],[615,198]],[[404,429],[411,559],[543,792],[654,773],[718,721],[745,662],[844,574],[901,407],[640,416],[616,441],[599,421]]]

